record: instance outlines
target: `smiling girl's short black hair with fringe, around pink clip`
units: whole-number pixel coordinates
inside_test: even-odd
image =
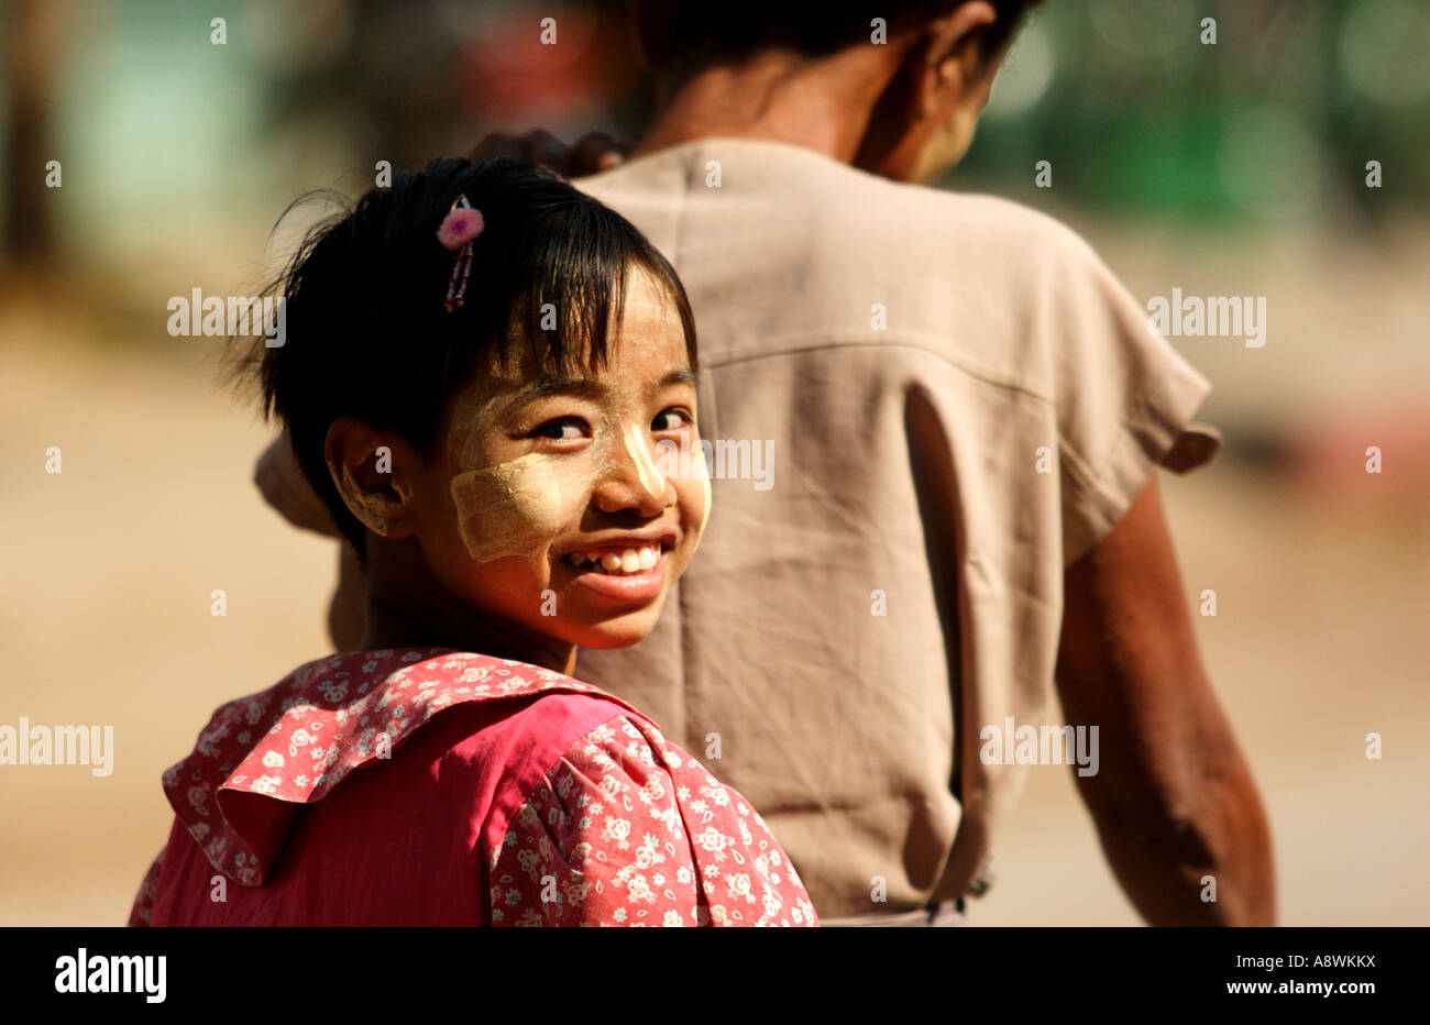
[[[472,243],[465,304],[448,313],[456,253],[436,232],[462,194],[485,227]],[[309,483],[365,553],[363,526],[323,455],[333,420],[352,416],[390,430],[432,457],[452,396],[490,360],[505,367],[512,346],[529,346],[549,373],[603,366],[606,329],[612,316],[619,323],[632,267],[668,290],[698,369],[685,289],[631,222],[543,167],[433,160],[423,173],[393,173],[390,187],[307,232],[266,290],[283,297],[286,343],[263,347],[259,339],[237,373],[257,379],[265,417],[277,415],[289,427]],[[546,303],[556,330],[542,329]]]

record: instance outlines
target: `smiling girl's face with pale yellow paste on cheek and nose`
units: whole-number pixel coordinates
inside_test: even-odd
[[[582,648],[651,632],[711,499],[679,313],[639,269],[622,313],[593,377],[541,376],[519,347],[459,393],[413,496],[428,565],[462,605]]]

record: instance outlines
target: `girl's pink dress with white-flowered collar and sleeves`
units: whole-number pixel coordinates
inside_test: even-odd
[[[130,925],[818,925],[739,793],[523,662],[310,662],[220,708],[163,785]]]

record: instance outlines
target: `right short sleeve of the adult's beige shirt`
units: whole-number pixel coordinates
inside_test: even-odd
[[[1057,227],[1042,317],[1062,476],[1064,563],[1090,552],[1155,466],[1185,473],[1221,445],[1193,422],[1211,385],[1148,323],[1123,283],[1074,232]]]

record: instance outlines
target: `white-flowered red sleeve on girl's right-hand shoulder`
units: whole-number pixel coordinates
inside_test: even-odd
[[[552,766],[490,865],[492,925],[818,925],[749,803],[625,715]]]

